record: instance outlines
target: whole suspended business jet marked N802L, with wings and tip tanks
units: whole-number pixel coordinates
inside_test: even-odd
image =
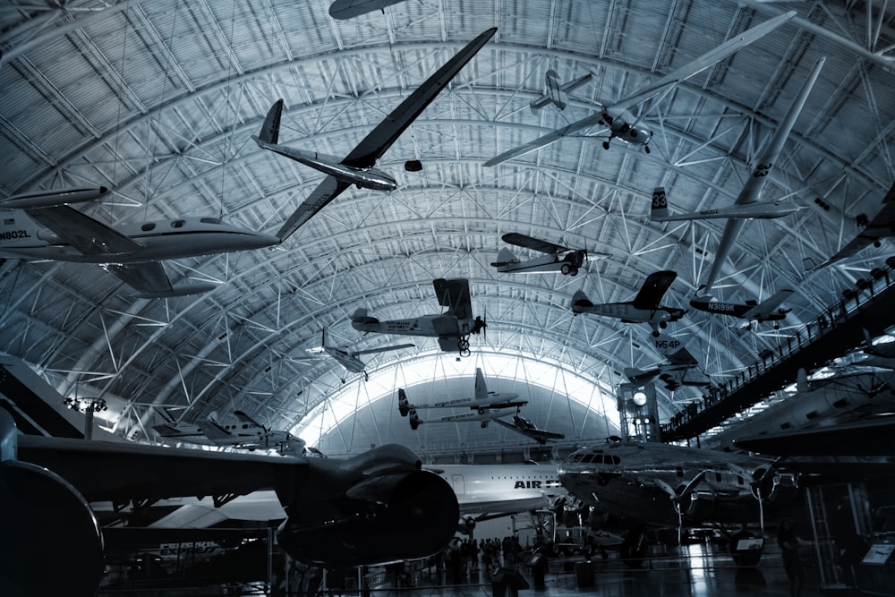
[[[137,290],[136,297],[167,298],[209,292],[217,284],[174,286],[161,260],[250,251],[280,242],[276,236],[230,226],[217,217],[184,217],[115,230],[68,205],[96,200],[107,192],[106,187],[60,189],[0,200],[0,211],[21,210],[2,218],[0,256],[97,264]]]

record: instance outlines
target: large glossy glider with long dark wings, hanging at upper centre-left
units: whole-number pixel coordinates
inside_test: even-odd
[[[376,128],[367,134],[343,159],[327,156],[312,149],[297,149],[279,144],[280,118],[283,114],[283,100],[278,100],[269,110],[255,142],[261,149],[269,149],[286,158],[311,166],[327,175],[311,192],[304,202],[295,209],[292,216],[277,232],[282,241],[292,235],[329,201],[336,199],[352,184],[358,188],[377,191],[394,191],[395,178],[374,167],[379,158],[397,141],[401,133],[413,123],[418,115],[429,106],[439,92],[447,87],[457,72],[465,66],[482,46],[497,31],[496,27],[485,31],[454,55],[429,79],[405,98],[401,104],[386,116]],[[415,169],[408,162],[405,167]]]

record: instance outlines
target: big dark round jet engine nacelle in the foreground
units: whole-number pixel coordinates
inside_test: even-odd
[[[277,491],[288,518],[277,542],[312,565],[363,566],[419,559],[444,549],[456,533],[456,494],[416,455],[383,446],[350,460],[314,460],[313,487]],[[289,499],[291,498],[291,499]]]

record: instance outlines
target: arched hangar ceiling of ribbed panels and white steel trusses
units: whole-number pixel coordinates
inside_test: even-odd
[[[415,365],[435,380],[481,366],[495,385],[528,385],[543,380],[533,363],[546,364],[564,383],[525,390],[539,405],[534,422],[570,440],[605,435],[605,421],[584,422],[589,408],[609,408],[591,398],[611,398],[624,368],[662,359],[647,326],[575,317],[572,294],[626,301],[650,273],[672,269],[678,278],[665,303],[688,308],[724,221],[651,223],[652,189],[664,186],[678,211],[732,204],[762,141],[823,56],[763,192],[808,208],[747,223],[716,287],[718,298],[737,302],[793,288],[785,325],[746,331],[691,310],[669,332],[686,340],[702,371],[725,380],[891,252],[886,242],[808,272],[854,235],[850,216],[874,215],[895,178],[888,4],[407,0],[349,21],[330,18],[328,4],[13,1],[0,11],[0,197],[105,185],[114,193],[79,209],[110,226],[210,215],[270,234],[321,179],[251,140],[277,98],[286,104],[283,142],[342,156],[459,47],[498,27],[379,161],[397,191],[350,189],[272,250],[166,262],[176,280],[217,283],[209,294],[134,299],[97,267],[0,263],[0,350],[32,363],[65,395],[107,397],[115,430],[128,437],[146,436],[153,405],[183,407],[174,412],[184,422],[241,408],[299,429],[337,397],[371,405],[385,396],[382,413],[393,412],[391,389],[366,388],[362,375],[309,360],[307,349],[320,345],[322,328],[357,349],[404,341],[362,336],[348,316],[359,307],[380,319],[438,312],[438,277],[469,278],[487,337],[473,337],[473,355],[461,363],[416,338],[413,349],[373,359],[371,380],[394,388],[416,379],[408,372]],[[796,18],[647,105],[649,154],[621,141],[603,149],[598,127],[482,165],[788,10]],[[548,69],[561,81],[594,76],[565,112],[533,113]],[[405,171],[408,159],[421,160],[422,171]],[[507,232],[609,257],[577,277],[498,274],[490,262]],[[575,391],[590,386],[591,398],[573,405],[572,379]],[[662,416],[699,394],[661,392]],[[566,401],[564,414],[550,415],[557,410],[543,407],[548,400]],[[373,427],[373,441],[418,441],[403,424]],[[474,447],[493,437],[455,428],[432,441]]]

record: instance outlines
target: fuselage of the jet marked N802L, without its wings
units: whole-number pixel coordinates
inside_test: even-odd
[[[264,235],[221,222],[217,217],[193,217],[166,222],[146,222],[122,226],[117,231],[141,248],[133,252],[98,252],[85,255],[24,212],[3,218],[0,226],[0,255],[31,260],[59,260],[77,263],[141,263],[261,249],[279,244],[273,235]]]

